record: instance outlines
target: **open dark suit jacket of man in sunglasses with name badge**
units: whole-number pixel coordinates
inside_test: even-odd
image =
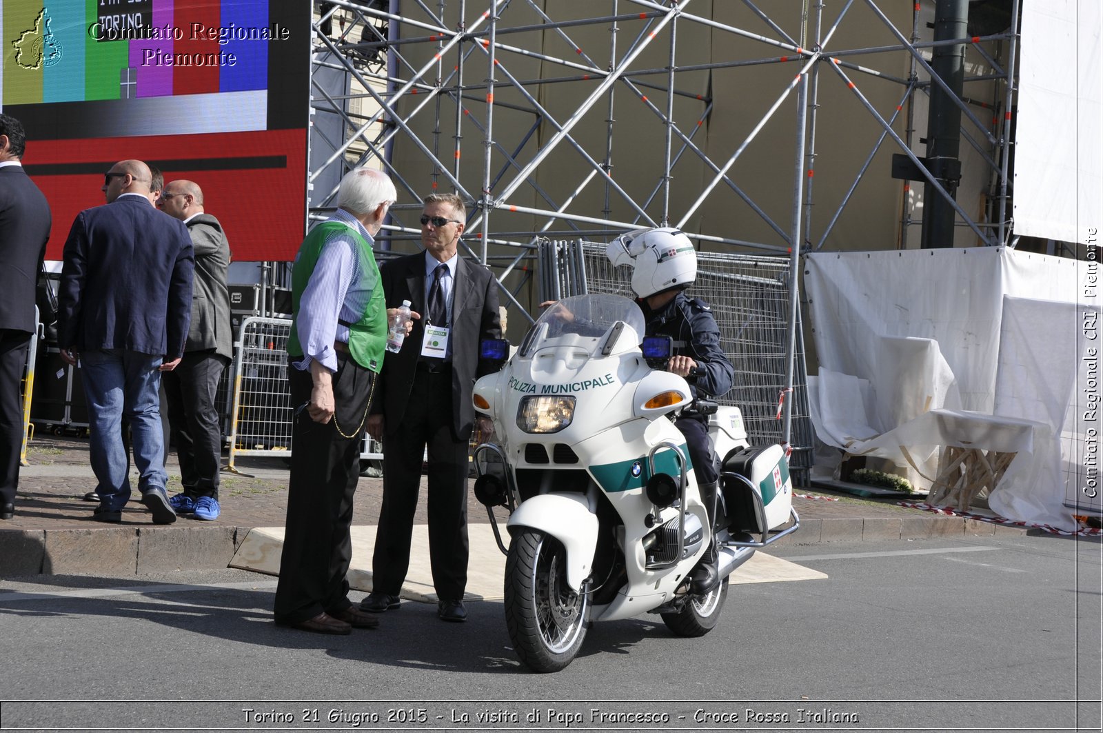
[[[421,320],[414,321],[414,330],[403,342],[397,353],[387,352],[383,360],[383,371],[376,394],[382,401],[372,405],[373,413],[383,413],[384,429],[392,432],[401,423],[406,413],[406,402],[414,386],[418,355],[421,353],[421,338],[425,333],[425,252],[392,259],[379,268],[387,308],[397,308],[403,300],[410,301],[410,308],[421,314]],[[465,440],[471,437],[475,408],[471,404],[471,393],[475,380],[489,373],[491,368],[480,363],[479,342],[482,339],[502,338],[502,325],[497,312],[497,283],[489,269],[460,257],[456,266],[456,281],[452,295],[452,415],[456,437]],[[382,404],[381,404],[382,402]]]

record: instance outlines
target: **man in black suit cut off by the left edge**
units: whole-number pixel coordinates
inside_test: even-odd
[[[0,115],[0,519],[15,512],[23,445],[20,382],[38,328],[34,288],[50,237],[50,204],[20,162],[24,140],[23,125]]]

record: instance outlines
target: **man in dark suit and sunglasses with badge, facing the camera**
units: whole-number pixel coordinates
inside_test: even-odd
[[[468,440],[474,426],[471,392],[490,371],[479,342],[501,338],[497,283],[489,269],[458,254],[465,209],[454,194],[424,200],[425,252],[381,268],[387,306],[409,300],[421,314],[379,374],[382,404],[373,403],[367,429],[383,440],[383,507],[372,561],[372,593],[361,608],[398,607],[409,567],[410,537],[421,482],[421,456],[429,459],[429,555],[439,599],[449,622],[467,618]]]

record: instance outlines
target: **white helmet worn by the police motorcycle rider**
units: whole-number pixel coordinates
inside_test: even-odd
[[[646,298],[672,287],[686,287],[697,277],[697,251],[679,230],[636,230],[622,234],[606,248],[613,265],[632,266],[632,291]]]

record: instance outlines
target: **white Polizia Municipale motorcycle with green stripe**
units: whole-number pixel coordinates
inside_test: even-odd
[[[475,410],[494,424],[492,442],[475,448],[475,496],[506,554],[510,638],[535,671],[569,665],[596,620],[653,613],[676,635],[707,634],[731,572],[800,527],[781,446],[751,448],[739,410],[694,401],[685,379],[651,365],[665,365],[670,339],[643,334],[643,312],[628,298],[566,298],[474,386]],[[504,344],[485,343],[484,357],[504,360]],[[682,410],[708,415],[722,458],[720,583],[703,595],[688,575],[711,533],[670,419]],[[499,506],[510,511],[508,548]]]

